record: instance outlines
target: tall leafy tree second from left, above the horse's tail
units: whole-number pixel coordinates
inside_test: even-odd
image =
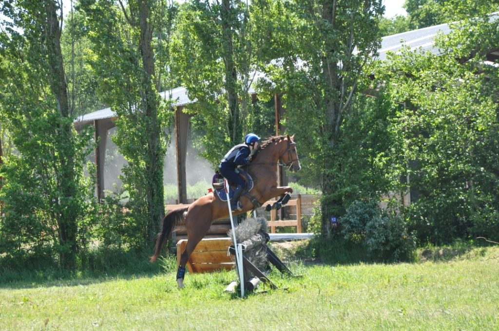
[[[82,0],[80,7],[87,14],[93,66],[103,77],[100,88],[117,114],[114,141],[128,161],[123,172],[129,206],[138,224],[146,220],[142,235],[152,243],[164,216],[166,137],[162,128],[171,118],[168,104],[158,93],[157,72],[158,64],[164,68],[169,63],[157,63],[159,46],[165,47],[154,36],[164,37],[163,15],[175,6],[162,0],[130,0],[126,4],[121,0]],[[143,210],[147,210],[145,214]]]

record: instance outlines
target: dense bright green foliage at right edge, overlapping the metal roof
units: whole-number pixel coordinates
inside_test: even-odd
[[[444,55],[406,49],[377,72],[396,111],[390,131],[415,189],[407,216],[421,240],[499,235],[498,72],[483,62],[497,29],[488,15],[469,18],[441,37]]]

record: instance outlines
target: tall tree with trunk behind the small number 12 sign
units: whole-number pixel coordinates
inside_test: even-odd
[[[296,16],[285,56],[269,68],[284,93],[286,125],[306,146],[304,167],[322,189],[322,231],[343,211],[337,174],[342,171],[338,141],[365,70],[380,44],[381,0],[292,1]],[[302,143],[301,143],[302,142]],[[303,151],[303,150],[301,150]]]

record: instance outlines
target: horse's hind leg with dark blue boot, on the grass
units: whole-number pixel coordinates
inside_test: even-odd
[[[195,219],[195,222],[193,221]],[[179,268],[177,270],[177,284],[179,288],[184,287],[184,276],[187,261],[192,252],[210,229],[211,220],[206,217],[186,217],[187,245],[180,255]]]

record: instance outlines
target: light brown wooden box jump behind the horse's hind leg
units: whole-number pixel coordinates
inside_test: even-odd
[[[180,263],[180,255],[186,245],[186,239],[182,239],[177,243],[177,265]],[[190,273],[232,270],[234,262],[231,255],[227,256],[230,245],[231,240],[229,238],[203,239],[192,252],[186,267]]]

